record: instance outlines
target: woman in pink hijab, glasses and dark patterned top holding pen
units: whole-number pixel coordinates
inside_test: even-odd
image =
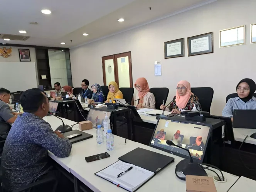
[[[176,96],[174,96],[172,103],[167,106],[161,105],[160,108],[166,111],[172,111],[172,113],[180,114],[182,111],[191,111],[195,105],[197,111],[201,111],[201,105],[199,99],[190,90],[190,83],[187,81],[180,81],[177,84]]]

